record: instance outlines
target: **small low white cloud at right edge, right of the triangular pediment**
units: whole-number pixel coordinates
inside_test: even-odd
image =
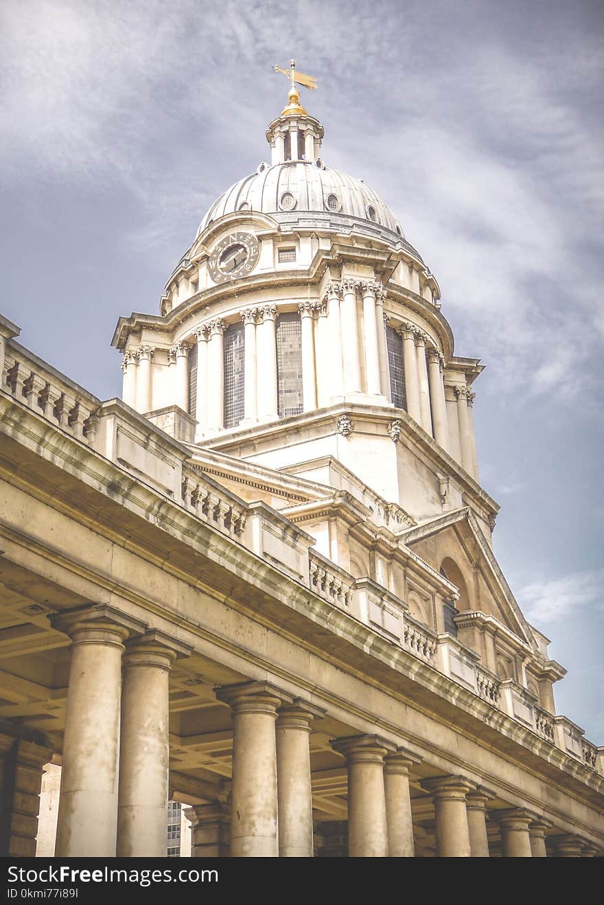
[[[536,624],[560,622],[580,610],[604,610],[604,569],[574,572],[535,581],[516,595],[525,616]]]

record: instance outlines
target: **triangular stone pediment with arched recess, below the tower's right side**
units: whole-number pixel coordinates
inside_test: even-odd
[[[495,559],[472,511],[445,513],[402,531],[399,537],[429,565],[444,571],[460,587],[458,609],[493,616],[531,649],[535,641],[530,625]]]

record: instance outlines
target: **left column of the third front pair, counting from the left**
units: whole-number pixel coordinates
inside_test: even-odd
[[[348,762],[348,854],[385,858],[388,824],[383,759],[394,747],[375,735],[337,738],[332,748]]]

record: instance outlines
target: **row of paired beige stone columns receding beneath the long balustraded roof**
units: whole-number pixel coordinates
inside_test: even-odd
[[[71,637],[55,855],[164,856],[168,681],[191,649],[108,605],[52,617]],[[216,691],[233,721],[231,802],[197,805],[193,854],[312,857],[310,734],[326,711],[265,681]],[[345,758],[348,854],[413,857],[410,775],[421,758],[379,735],[331,741]],[[420,781],[434,805],[440,857],[488,857],[494,795],[464,776]],[[520,807],[492,809],[506,857],[544,857],[552,824]],[[560,835],[557,851],[596,853]]]

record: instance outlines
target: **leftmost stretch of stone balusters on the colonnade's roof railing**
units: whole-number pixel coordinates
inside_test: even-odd
[[[93,442],[99,399],[14,341],[6,344],[2,389],[54,427]]]

